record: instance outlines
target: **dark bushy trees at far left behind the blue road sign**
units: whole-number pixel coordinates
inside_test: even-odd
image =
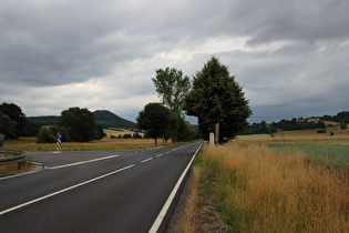
[[[39,126],[27,119],[19,105],[0,105],[0,133],[3,133],[6,139],[37,136],[39,143],[55,142],[59,132],[62,133],[64,142],[86,142],[105,135],[88,109],[70,108],[62,111],[59,121],[52,126]]]

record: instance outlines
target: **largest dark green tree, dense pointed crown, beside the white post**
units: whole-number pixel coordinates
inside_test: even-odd
[[[185,97],[183,109],[188,115],[198,118],[199,132],[206,140],[219,123],[220,142],[242,132],[252,114],[242,87],[215,57],[194,77],[193,89]]]

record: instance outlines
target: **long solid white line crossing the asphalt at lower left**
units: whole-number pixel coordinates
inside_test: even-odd
[[[52,197],[52,196],[54,196],[54,195],[58,195],[58,194],[68,192],[68,191],[70,191],[70,190],[76,189],[76,188],[82,186],[82,185],[85,185],[85,184],[88,184],[88,183],[91,183],[91,182],[101,180],[101,179],[103,179],[103,178],[106,178],[106,176],[116,174],[116,173],[119,173],[119,172],[125,171],[125,170],[131,169],[131,168],[133,168],[133,166],[135,166],[135,164],[131,164],[131,165],[124,166],[124,168],[122,168],[122,169],[115,170],[115,171],[110,172],[110,173],[106,173],[106,174],[104,174],[104,175],[101,175],[101,176],[91,179],[91,180],[89,180],[89,181],[85,181],[85,182],[82,182],[82,183],[72,185],[72,186],[70,186],[70,188],[66,188],[66,189],[57,191],[57,192],[54,192],[54,193],[50,193],[50,194],[48,194],[48,195],[41,196],[41,197],[39,197],[39,199],[34,199],[34,200],[29,201],[29,202],[25,202],[25,203],[23,203],[23,204],[20,204],[20,205],[17,205],[17,206],[7,209],[7,210],[0,212],[0,216],[3,215],[3,214],[6,214],[6,213],[9,213],[9,212],[19,210],[19,209],[21,209],[21,207],[24,207],[24,206],[27,206],[27,205],[33,204],[33,203],[35,203],[35,202],[40,202],[40,201],[42,201],[42,200],[45,200],[45,199]]]

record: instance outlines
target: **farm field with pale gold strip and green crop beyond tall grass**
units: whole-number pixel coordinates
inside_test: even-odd
[[[335,135],[330,135],[332,131]],[[349,170],[349,129],[338,126],[327,129],[328,133],[317,133],[316,130],[284,131],[269,134],[238,136],[239,143],[266,144],[274,150],[290,152],[301,151],[307,160],[335,169]]]

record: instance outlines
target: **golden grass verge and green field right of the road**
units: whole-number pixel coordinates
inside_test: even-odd
[[[349,131],[330,130],[335,135],[285,131],[205,145],[183,230],[349,232]]]

